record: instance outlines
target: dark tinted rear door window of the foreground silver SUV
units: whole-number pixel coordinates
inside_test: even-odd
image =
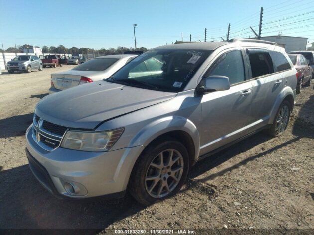
[[[252,71],[252,78],[273,73],[273,65],[268,53],[250,52],[249,60]]]

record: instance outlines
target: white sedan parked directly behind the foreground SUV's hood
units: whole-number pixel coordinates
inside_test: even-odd
[[[72,70],[51,74],[49,94],[70,87],[109,78],[122,66],[135,58],[134,55],[100,56],[88,60]]]

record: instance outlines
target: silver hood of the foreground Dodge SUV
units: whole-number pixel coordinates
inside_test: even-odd
[[[35,113],[61,126],[94,129],[103,121],[164,102],[176,94],[98,81],[44,97]]]

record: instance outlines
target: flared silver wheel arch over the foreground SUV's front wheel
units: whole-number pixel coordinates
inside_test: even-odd
[[[195,155],[193,157],[196,160],[199,155],[199,133],[191,120],[181,116],[168,116],[151,122],[133,137],[130,146],[148,146],[157,137],[171,131],[184,131],[190,135],[195,148]]]

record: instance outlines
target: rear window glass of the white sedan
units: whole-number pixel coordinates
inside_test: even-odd
[[[118,59],[113,58],[99,58],[99,59],[91,59],[84,64],[80,64],[74,67],[72,70],[81,70],[81,71],[103,71],[108,69],[113,63],[115,63]]]

